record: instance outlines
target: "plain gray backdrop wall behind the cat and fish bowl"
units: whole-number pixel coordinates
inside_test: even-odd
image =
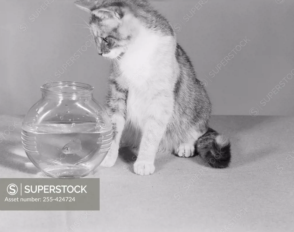
[[[89,18],[73,2],[55,0],[33,22],[29,17],[37,16],[44,1],[1,3],[0,113],[26,114],[40,99],[44,81],[53,80],[51,75],[55,78],[54,73],[91,39],[88,29],[73,25]],[[198,78],[208,81],[214,115],[249,115],[252,107],[258,108],[256,103],[262,108],[260,115],[294,115],[294,78],[265,106],[260,104],[294,68],[294,1],[277,2],[209,0],[201,7],[191,0],[151,1],[171,24],[181,25],[178,42],[191,57]],[[186,14],[193,14],[187,22]],[[27,28],[22,25],[19,30],[21,23]],[[246,36],[248,44],[210,82],[206,76]],[[56,80],[89,83],[94,97],[103,102],[109,62],[93,45],[82,53]]]

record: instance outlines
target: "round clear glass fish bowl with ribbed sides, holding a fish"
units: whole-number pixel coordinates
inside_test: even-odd
[[[47,176],[87,176],[106,157],[112,126],[93,86],[53,82],[41,86],[41,99],[26,114],[21,142],[27,157]]]

